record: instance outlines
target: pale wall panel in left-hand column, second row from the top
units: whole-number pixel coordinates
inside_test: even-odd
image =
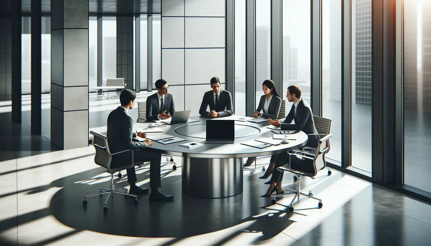
[[[184,48],[184,17],[162,17],[162,48]]]

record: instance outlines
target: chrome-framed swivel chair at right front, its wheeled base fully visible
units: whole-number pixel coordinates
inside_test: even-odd
[[[295,201],[295,198],[298,198],[298,201],[299,201],[300,195],[319,200],[318,206],[319,208],[322,208],[323,206],[322,200],[314,197],[311,190],[309,191],[308,194],[302,193],[301,187],[299,185],[299,177],[314,177],[317,175],[317,173],[320,170],[326,168],[325,154],[329,151],[329,147],[326,146],[326,143],[327,143],[327,140],[332,137],[332,135],[328,134],[328,135],[321,135],[321,136],[324,136],[324,137],[322,137],[318,141],[318,145],[314,155],[309,153],[304,153],[302,151],[296,151],[296,153],[290,155],[289,164],[278,168],[278,170],[280,171],[289,171],[297,175],[298,177],[296,180],[297,187],[296,187],[296,190],[284,190],[283,194],[271,196],[272,204],[276,203],[275,197],[295,194],[294,198],[290,202],[290,207],[289,207],[290,212],[294,211],[293,202]],[[294,167],[292,168],[292,166]],[[309,171],[311,169],[310,166],[312,166],[313,171]],[[309,169],[306,169],[306,168],[309,168]]]

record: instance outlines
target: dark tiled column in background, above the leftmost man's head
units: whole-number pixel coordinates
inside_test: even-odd
[[[117,78],[124,78],[125,88],[133,90],[133,20],[117,16]]]

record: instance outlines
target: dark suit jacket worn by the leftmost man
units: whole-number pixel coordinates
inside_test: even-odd
[[[136,133],[133,132],[133,119],[122,107],[118,107],[108,116],[109,151],[115,153],[125,149],[146,149],[145,143],[134,142]]]

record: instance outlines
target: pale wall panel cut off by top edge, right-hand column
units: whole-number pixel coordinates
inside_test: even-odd
[[[186,16],[225,16],[225,0],[186,0],[185,2]]]

